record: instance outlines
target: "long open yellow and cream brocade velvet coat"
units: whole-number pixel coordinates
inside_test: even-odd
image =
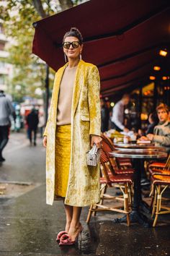
[[[50,113],[44,135],[46,149],[46,202],[53,205],[55,194],[55,130],[57,119],[58,93],[64,69],[55,74]],[[90,136],[99,135],[101,112],[99,101],[99,72],[96,66],[79,61],[73,85],[71,106],[71,163],[65,203],[86,206],[99,202],[99,165],[87,166],[86,152],[90,149]]]

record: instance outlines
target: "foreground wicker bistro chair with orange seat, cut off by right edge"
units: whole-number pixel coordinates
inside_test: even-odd
[[[165,170],[168,174],[168,171]],[[158,220],[158,215],[170,213],[170,207],[166,205],[162,205],[162,195],[170,185],[170,171],[169,175],[153,175],[151,176],[151,182],[155,189],[154,200],[153,200],[153,210],[152,217],[155,214],[155,218],[153,221],[153,227],[156,226],[156,222]]]

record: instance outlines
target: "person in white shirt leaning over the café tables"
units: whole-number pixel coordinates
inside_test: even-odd
[[[130,102],[130,95],[124,94],[122,99],[118,101],[112,109],[112,129],[116,129],[118,132],[128,132],[129,129],[125,127],[125,105]]]

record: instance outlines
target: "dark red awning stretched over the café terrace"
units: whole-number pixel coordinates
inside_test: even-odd
[[[104,96],[148,82],[154,64],[169,72],[169,57],[163,63],[158,56],[170,48],[169,0],[91,0],[34,26],[32,51],[55,70],[64,64],[63,35],[78,27],[83,59],[99,67]]]

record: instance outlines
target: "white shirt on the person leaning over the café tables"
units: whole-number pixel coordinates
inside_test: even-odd
[[[124,105],[122,101],[118,101],[112,109],[111,121],[117,125],[120,129],[124,129]]]

